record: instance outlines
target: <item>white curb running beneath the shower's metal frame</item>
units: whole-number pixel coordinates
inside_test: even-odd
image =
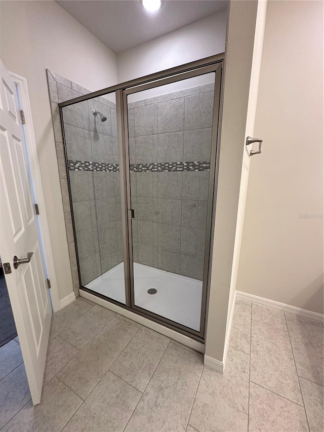
[[[176,340],[182,345],[188,346],[191,349],[194,349],[198,352],[205,352],[204,343],[198,342],[197,340],[191,339],[188,336],[185,336],[181,333],[176,332],[175,330],[169,329],[168,327],[162,326],[161,324],[155,323],[154,321],[148,320],[137,313],[132,312],[131,310],[125,309],[124,307],[118,306],[114,303],[110,303],[107,300],[104,300],[101,297],[97,297],[94,294],[90,294],[87,291],[80,290],[80,297],[84,297],[88,300],[93,301],[94,303],[100,304],[107,309],[110,309],[123,317],[129,318],[130,320],[135,321],[136,323],[142,324],[149,329],[155,330],[158,333],[161,333],[170,339]]]

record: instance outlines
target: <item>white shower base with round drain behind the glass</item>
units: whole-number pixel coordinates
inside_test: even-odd
[[[125,304],[124,263],[85,285]],[[148,294],[155,288],[156,294]],[[203,282],[134,262],[135,305],[199,331]]]

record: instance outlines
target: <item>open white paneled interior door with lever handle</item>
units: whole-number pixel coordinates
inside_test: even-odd
[[[2,62],[0,72],[0,256],[35,405],[41,402],[52,309],[15,85]],[[29,262],[15,268],[14,256],[31,253]]]

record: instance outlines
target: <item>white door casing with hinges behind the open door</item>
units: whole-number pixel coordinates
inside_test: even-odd
[[[23,125],[24,139],[26,141],[26,150],[29,160],[30,175],[34,189],[35,200],[39,209],[39,226],[41,228],[43,252],[45,257],[46,270],[48,278],[51,281],[50,297],[52,301],[53,312],[61,309],[60,299],[58,295],[58,287],[55,273],[54,258],[52,252],[52,244],[50,238],[50,230],[45,207],[44,191],[41,178],[41,170],[39,169],[39,160],[37,155],[37,146],[34,133],[34,127],[31,115],[31,106],[28,93],[27,80],[23,76],[17,75],[9,71],[15,85],[17,85],[21,107],[24,111],[25,124]]]

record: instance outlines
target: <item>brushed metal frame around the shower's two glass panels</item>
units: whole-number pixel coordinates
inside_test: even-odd
[[[94,97],[98,97],[98,96],[103,96],[109,93],[113,93],[115,92],[116,95],[116,111],[117,113],[119,112],[119,115],[117,115],[117,136],[118,136],[118,153],[119,153],[119,161],[120,161],[120,157],[123,157],[123,160],[125,160],[125,152],[126,152],[126,145],[125,145],[125,124],[127,123],[127,110],[125,112],[123,106],[124,106],[124,95],[123,95],[123,91],[125,91],[126,89],[130,90],[130,92],[134,92],[135,88],[137,88],[137,86],[142,86],[142,85],[147,85],[147,86],[152,86],[155,87],[156,81],[159,80],[164,80],[172,82],[172,80],[174,81],[178,81],[175,77],[175,75],[184,75],[187,74],[187,77],[190,77],[190,73],[191,72],[195,72],[195,75],[199,75],[198,71],[199,69],[204,69],[206,70],[206,68],[208,68],[209,66],[211,66],[212,69],[211,71],[215,71],[218,67],[220,67],[220,73],[216,73],[216,77],[215,77],[215,88],[217,85],[217,80],[218,80],[218,75],[220,76],[220,86],[219,86],[219,93],[216,95],[215,92],[215,96],[214,96],[214,105],[215,105],[215,100],[218,99],[218,106],[217,106],[217,112],[215,112],[214,110],[214,116],[213,116],[213,125],[217,124],[217,128],[215,130],[213,130],[213,136],[212,136],[212,151],[216,151],[216,159],[214,158],[214,161],[211,161],[211,168],[210,170],[213,170],[213,175],[210,176],[210,182],[209,182],[209,197],[211,196],[210,193],[212,191],[212,198],[209,199],[208,201],[208,214],[210,215],[210,218],[208,218],[208,222],[209,223],[207,230],[209,231],[209,233],[206,233],[206,238],[208,237],[207,241],[206,241],[206,245],[205,245],[205,256],[206,256],[206,252],[208,250],[208,258],[209,259],[205,259],[205,263],[204,263],[204,276],[205,274],[208,274],[208,280],[205,283],[206,287],[204,287],[204,293],[205,294],[205,298],[203,298],[202,303],[204,303],[204,316],[200,317],[201,322],[204,322],[204,328],[201,329],[200,332],[196,332],[194,330],[192,331],[188,331],[187,328],[185,328],[184,326],[181,326],[180,324],[172,324],[172,322],[170,322],[170,320],[167,319],[159,319],[157,317],[154,317],[152,313],[147,313],[148,311],[142,311],[142,310],[137,310],[135,308],[131,308],[131,296],[127,294],[126,292],[126,304],[121,304],[118,301],[111,299],[109,297],[106,297],[102,294],[96,293],[95,291],[92,291],[89,288],[86,288],[84,286],[82,286],[82,284],[80,283],[80,288],[83,290],[83,292],[85,294],[88,294],[91,296],[91,298],[93,299],[93,296],[95,296],[98,299],[102,299],[105,302],[109,302],[110,305],[114,305],[114,307],[118,307],[118,309],[123,309],[125,311],[129,311],[132,312],[134,314],[136,314],[137,316],[142,316],[143,318],[148,318],[151,322],[155,322],[158,325],[162,325],[165,328],[169,328],[172,331],[178,332],[179,334],[185,336],[185,337],[189,337],[192,340],[198,341],[198,342],[202,342],[204,343],[205,341],[205,336],[206,336],[206,328],[207,328],[207,315],[208,315],[208,303],[209,303],[209,291],[210,291],[210,281],[211,281],[211,274],[210,274],[210,268],[211,268],[211,261],[212,261],[212,245],[213,245],[213,234],[214,234],[214,218],[215,218],[215,210],[216,210],[216,190],[217,190],[217,174],[218,174],[218,161],[219,161],[219,144],[220,144],[220,124],[221,124],[221,116],[222,116],[222,101],[223,101],[223,64],[224,64],[224,59],[225,59],[225,53],[221,53],[221,54],[217,54],[211,57],[207,57],[204,59],[200,59],[200,60],[196,60],[190,63],[186,63],[180,66],[176,66],[170,69],[166,69],[160,72],[156,72],[156,73],[152,73],[150,75],[146,75],[140,78],[136,78],[135,80],[131,80],[125,83],[120,83],[117,84],[115,86],[112,87],[108,87],[106,89],[102,89],[102,90],[98,90],[96,92],[93,93],[88,93],[86,95],[82,95],[82,96],[78,96],[76,98],[70,99],[70,100],[66,100],[64,102],[60,102],[59,108],[60,108],[60,118],[61,118],[61,126],[62,126],[62,132],[63,132],[63,141],[64,141],[64,151],[65,151],[65,163],[66,163],[66,168],[68,170],[68,160],[67,160],[67,151],[66,151],[66,142],[65,142],[65,134],[64,134],[64,122],[63,122],[63,112],[62,112],[62,108],[64,108],[65,106],[70,106],[73,105],[75,103],[78,102],[82,102],[85,100],[89,100],[92,99]],[[207,73],[207,72],[203,72],[203,73]],[[165,79],[166,78],[166,79]],[[168,78],[168,80],[167,80]],[[167,82],[166,82],[167,84]],[[132,89],[131,89],[132,88]],[[122,115],[120,115],[122,114]],[[215,123],[216,121],[216,117],[217,117],[217,123]],[[127,147],[128,148],[128,147]],[[126,154],[127,156],[127,154]],[[126,159],[126,164],[127,164],[127,159]],[[123,170],[122,170],[123,171]],[[128,206],[127,206],[127,194],[126,194],[126,182],[127,182],[127,178],[126,178],[126,173],[121,172],[120,173],[120,180],[121,180],[121,184],[120,184],[120,194],[121,194],[121,201],[123,202],[123,208],[125,211],[122,211],[122,221],[123,221],[123,243],[124,245],[128,246],[129,244],[129,224],[128,224]],[[213,181],[211,181],[211,177],[213,178]],[[70,181],[69,181],[69,176],[67,178],[67,183],[68,183],[68,190],[69,190],[69,200],[70,200],[70,204],[71,204],[71,213],[73,215],[73,207],[72,207],[72,201],[71,201],[71,185],[70,185]],[[124,183],[124,184],[123,184]],[[79,268],[79,261],[78,261],[78,253],[77,253],[77,244],[76,244],[76,234],[75,234],[75,226],[74,226],[74,218],[72,217],[72,226],[73,226],[73,233],[74,233],[74,241],[75,241],[75,250],[76,250],[76,257],[77,257],[77,269],[78,269],[78,276],[79,276],[79,281],[80,281],[80,268]],[[129,262],[130,262],[130,253],[129,253],[130,248],[129,247],[124,247],[124,263],[125,266],[129,266]],[[126,251],[126,252],[125,252]],[[128,281],[129,281],[129,269],[127,269],[127,271],[125,271],[125,289],[127,291],[127,285],[128,285]],[[205,278],[206,279],[206,278]],[[87,298],[88,295],[86,295],[85,297]],[[204,297],[204,296],[203,296]],[[107,307],[107,306],[106,306]],[[169,321],[169,323],[167,322]],[[182,327],[182,328],[181,328]]]

